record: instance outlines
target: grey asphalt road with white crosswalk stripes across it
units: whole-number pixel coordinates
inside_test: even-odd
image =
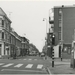
[[[48,74],[48,66],[51,63],[39,56],[0,59],[0,74]]]

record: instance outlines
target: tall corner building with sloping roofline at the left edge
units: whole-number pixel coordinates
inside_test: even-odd
[[[0,57],[10,55],[10,25],[10,19],[0,8]]]

